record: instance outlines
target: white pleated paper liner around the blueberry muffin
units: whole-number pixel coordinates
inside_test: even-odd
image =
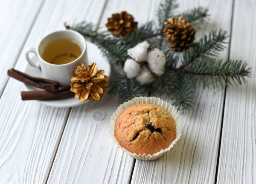
[[[160,152],[154,153],[153,155],[145,155],[145,153],[143,155],[139,154],[137,155],[136,153],[131,153],[128,150],[126,150],[125,148],[121,147],[118,143],[118,141],[115,138],[115,122],[117,117],[120,115],[120,113],[126,109],[129,106],[135,105],[137,103],[151,103],[151,104],[156,104],[158,106],[163,107],[164,109],[166,109],[173,117],[175,124],[176,124],[176,139],[174,141],[172,141],[172,144],[166,148],[165,150],[161,150]],[[113,113],[113,115],[111,116],[111,127],[110,127],[110,134],[111,137],[113,138],[114,142],[116,143],[117,147],[119,147],[121,150],[123,150],[124,152],[127,152],[129,155],[131,155],[133,158],[136,158],[138,160],[143,160],[143,161],[152,161],[152,160],[156,160],[157,158],[160,158],[165,152],[169,151],[174,145],[175,143],[180,139],[181,136],[181,120],[180,117],[177,114],[177,110],[174,108],[174,106],[172,106],[171,104],[160,100],[160,98],[155,98],[155,97],[136,97],[131,99],[128,102],[123,103],[122,105],[120,105],[116,112]]]

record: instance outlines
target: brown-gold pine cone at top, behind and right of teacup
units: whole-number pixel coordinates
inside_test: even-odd
[[[121,13],[112,14],[112,17],[108,18],[106,26],[109,31],[113,32],[113,35],[126,36],[137,29],[137,22],[134,22],[134,17],[131,14],[122,11]]]

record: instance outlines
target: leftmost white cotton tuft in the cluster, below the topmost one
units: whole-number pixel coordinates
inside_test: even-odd
[[[124,71],[128,78],[134,78],[140,73],[140,64],[136,63],[133,59],[125,61]]]

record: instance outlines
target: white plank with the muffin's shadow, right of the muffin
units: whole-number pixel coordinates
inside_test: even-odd
[[[222,1],[179,1],[180,11],[197,6],[209,7],[209,25],[199,31],[197,37],[220,27],[230,32],[232,0]],[[225,18],[223,18],[225,17]],[[228,51],[220,58],[227,58]],[[169,152],[157,161],[136,161],[132,184],[154,183],[214,183],[224,90],[201,89],[195,93],[195,105],[180,117],[183,135]],[[162,97],[170,102],[169,98]]]

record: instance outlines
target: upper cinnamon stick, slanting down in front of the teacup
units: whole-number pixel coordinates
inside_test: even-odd
[[[23,83],[26,83],[28,85],[35,86],[41,89],[45,89],[51,92],[58,92],[58,89],[60,86],[58,82],[55,82],[53,80],[32,77],[30,75],[27,75],[15,69],[9,69],[7,73],[10,77],[20,80]]]

